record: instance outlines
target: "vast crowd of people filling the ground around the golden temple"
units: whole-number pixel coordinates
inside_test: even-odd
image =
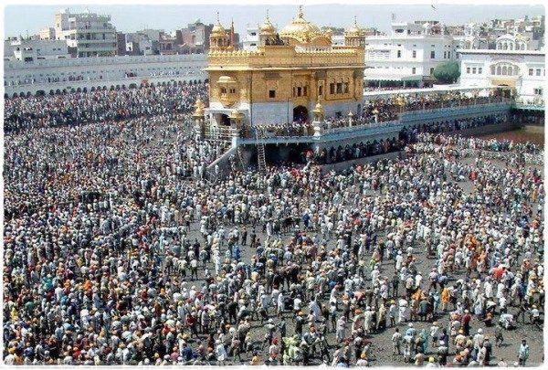
[[[128,119],[165,113],[172,92],[142,89],[6,102],[29,129],[5,134],[6,365],[350,366],[390,347],[395,364],[528,365],[542,351],[498,346],[543,333],[543,174],[522,163],[542,163],[538,148],[438,123],[394,160],[210,183],[226,144],[171,115]],[[49,127],[66,107],[95,123]]]

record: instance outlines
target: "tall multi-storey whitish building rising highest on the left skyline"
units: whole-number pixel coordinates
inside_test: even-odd
[[[95,13],[70,14],[68,9],[55,15],[55,37],[67,42],[76,57],[111,57],[116,55],[116,28],[111,16]]]

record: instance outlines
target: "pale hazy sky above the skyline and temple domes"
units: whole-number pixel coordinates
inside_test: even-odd
[[[221,23],[228,26],[234,18],[237,32],[244,33],[246,25],[262,23],[269,9],[272,23],[283,27],[297,12],[297,5],[8,5],[5,6],[5,36],[35,34],[46,26],[53,26],[58,9],[68,7],[71,12],[109,14],[112,24],[120,31],[132,32],[148,28],[171,31],[182,28],[200,18],[215,23],[216,12]],[[305,18],[317,26],[349,26],[353,16],[362,26],[374,26],[387,31],[391,14],[397,21],[418,19],[440,20],[448,25],[494,18],[519,18],[544,14],[543,5],[305,5]]]

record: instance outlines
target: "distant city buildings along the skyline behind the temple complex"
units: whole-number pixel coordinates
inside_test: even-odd
[[[386,35],[375,28],[365,28],[366,36],[374,40],[388,40],[399,37],[393,22],[393,34]],[[431,27],[431,34],[444,38],[454,48],[496,48],[499,37],[518,37],[524,48],[540,50],[544,45],[544,16],[524,16],[519,19],[492,19],[484,23],[466,25],[443,25],[437,20],[415,21],[407,29],[408,35],[416,35],[419,26]],[[46,26],[36,35],[11,36],[5,40],[4,59],[31,62],[47,58],[87,58],[114,56],[149,56],[205,53],[209,48],[209,36],[214,24],[197,19],[181,29],[142,29],[137,32],[117,30],[109,15],[90,11],[71,13],[61,9],[53,19],[53,25]],[[322,26],[325,30],[328,27]],[[343,27],[331,27],[334,45],[343,43]],[[231,26],[232,37],[240,48],[252,47],[258,36],[257,26],[248,26],[245,37]],[[522,44],[521,44],[522,45]],[[374,53],[370,53],[371,55]],[[453,54],[453,53],[452,53]],[[457,58],[456,55],[451,58]]]

